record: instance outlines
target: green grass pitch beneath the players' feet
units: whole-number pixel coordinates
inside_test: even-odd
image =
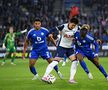
[[[47,84],[40,80],[31,80],[33,75],[29,71],[28,59],[16,59],[16,66],[12,66],[10,60],[7,60],[4,66],[0,65],[0,90],[108,90],[108,81],[90,61],[85,61],[94,76],[93,80],[89,80],[81,66],[78,65],[75,76],[78,83],[69,84],[71,64],[68,62],[64,67],[62,67],[62,63],[59,63],[59,69],[64,75],[64,80],[61,80],[53,70],[52,74],[57,77],[57,80],[53,84]],[[0,64],[1,62],[0,59]],[[100,58],[100,63],[108,72],[108,58]],[[37,61],[35,66],[40,78],[43,76],[47,65],[47,62],[41,58]]]

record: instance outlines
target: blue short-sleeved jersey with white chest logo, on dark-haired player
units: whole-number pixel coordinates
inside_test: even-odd
[[[32,28],[27,35],[27,39],[31,41],[32,49],[42,50],[47,47],[46,38],[49,35],[49,31],[46,28],[41,27],[40,30]]]

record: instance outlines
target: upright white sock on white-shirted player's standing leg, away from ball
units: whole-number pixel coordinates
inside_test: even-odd
[[[77,71],[78,61],[73,61],[70,68],[70,80],[74,79],[74,76]]]

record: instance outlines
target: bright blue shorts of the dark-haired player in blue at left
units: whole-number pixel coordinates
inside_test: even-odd
[[[48,49],[43,49],[40,51],[32,50],[29,58],[30,59],[38,59],[39,56],[41,56],[43,59],[46,59],[46,60],[48,60],[49,58],[52,58],[52,55]]]

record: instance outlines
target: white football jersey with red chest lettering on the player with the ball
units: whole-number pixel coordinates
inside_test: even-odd
[[[61,39],[59,41],[59,46],[64,47],[64,48],[71,48],[73,44],[74,34],[78,30],[78,26],[70,30],[68,29],[68,23],[63,24],[63,25],[64,25],[64,28],[61,30],[62,33],[61,33]]]

